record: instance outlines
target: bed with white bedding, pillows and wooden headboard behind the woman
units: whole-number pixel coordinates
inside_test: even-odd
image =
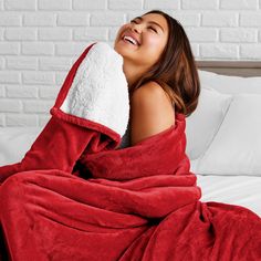
[[[187,155],[201,201],[261,216],[261,62],[198,62],[201,94],[187,118]],[[41,127],[1,127],[0,166],[19,161]]]

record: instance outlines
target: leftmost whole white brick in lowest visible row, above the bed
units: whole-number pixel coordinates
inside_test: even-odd
[[[7,126],[38,126],[38,116],[31,114],[7,114]]]

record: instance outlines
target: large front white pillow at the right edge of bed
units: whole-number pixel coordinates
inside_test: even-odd
[[[233,96],[197,174],[261,176],[261,95]]]

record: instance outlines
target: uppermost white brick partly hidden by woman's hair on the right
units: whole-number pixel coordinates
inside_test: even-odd
[[[173,18],[178,20],[182,27],[199,27],[200,25],[200,13],[191,11],[174,11],[170,14]]]

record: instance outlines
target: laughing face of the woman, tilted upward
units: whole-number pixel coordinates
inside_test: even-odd
[[[130,43],[124,35],[134,38],[138,43]],[[119,28],[114,50],[124,58],[124,61],[149,69],[160,58],[167,40],[167,20],[158,13],[148,13]]]

